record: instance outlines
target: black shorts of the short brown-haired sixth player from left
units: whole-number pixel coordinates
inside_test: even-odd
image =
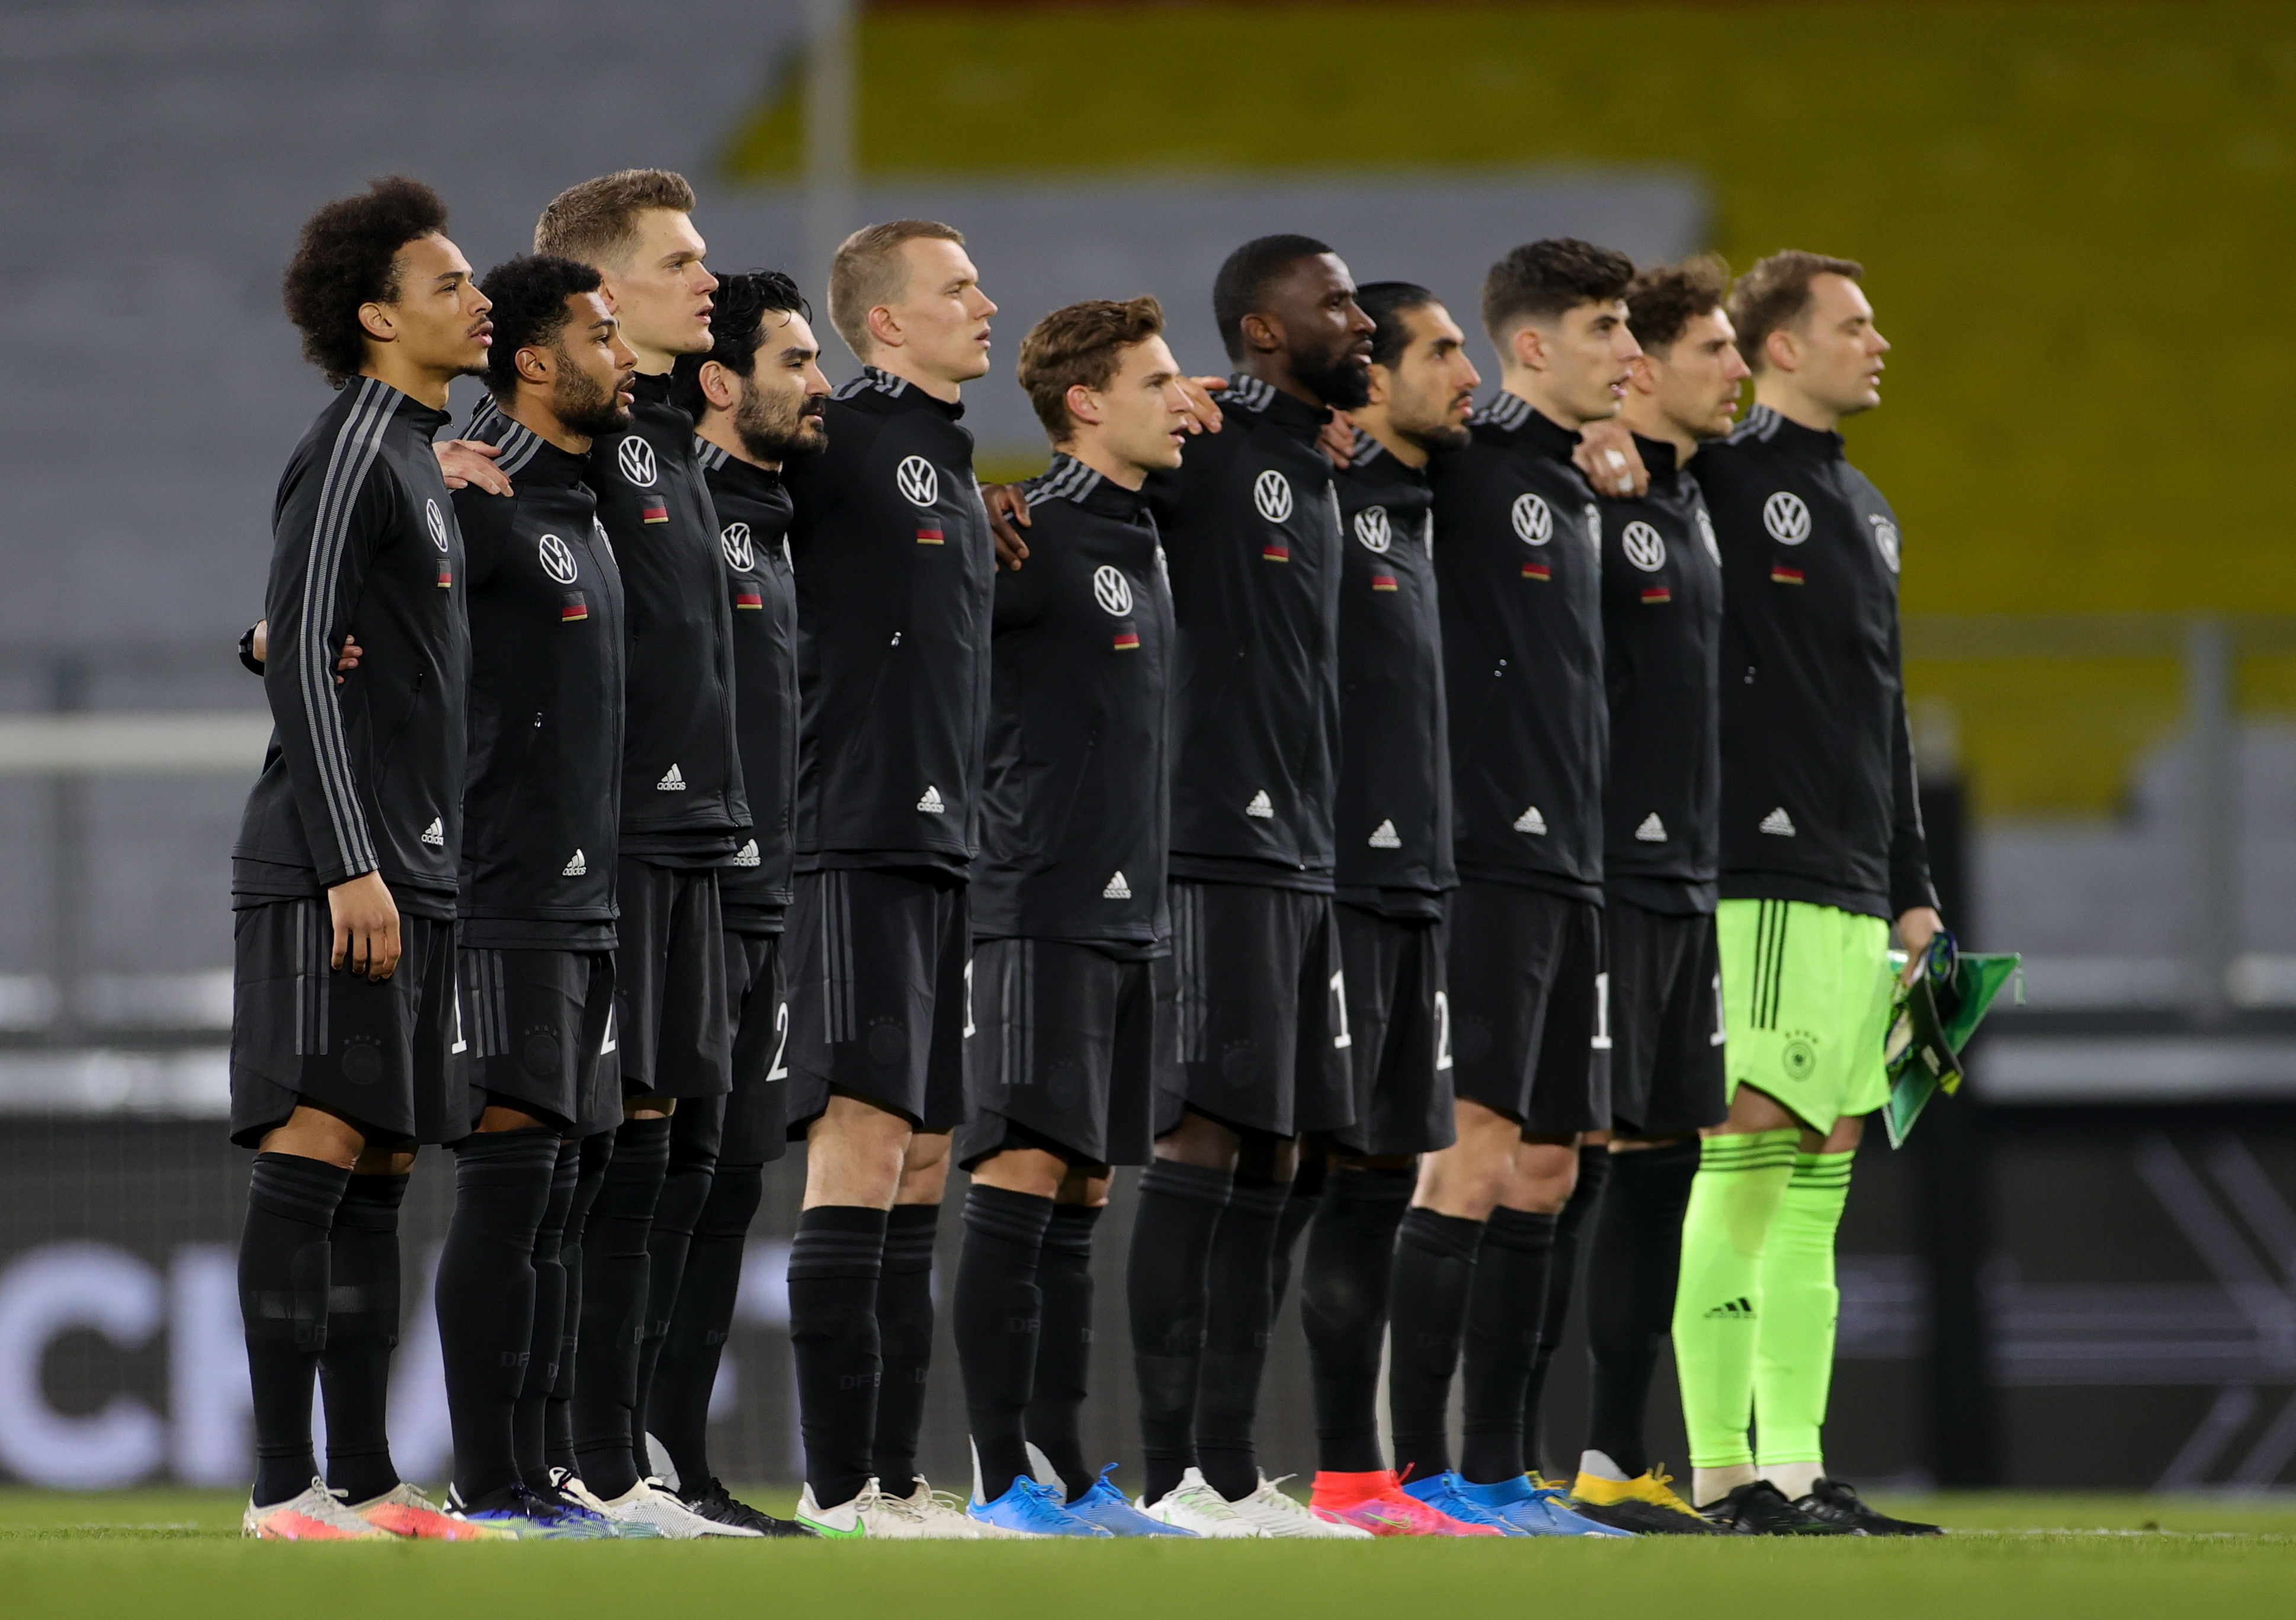
[[[1157,1053],[1169,1044],[1148,961],[1056,938],[974,948],[957,1166],[1042,1147],[1075,1166],[1148,1163]],[[1166,1039],[1159,1039],[1166,1035]]]

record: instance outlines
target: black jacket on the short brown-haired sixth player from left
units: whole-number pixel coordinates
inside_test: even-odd
[[[1173,629],[1155,519],[1068,454],[1024,493],[1029,562],[996,576],[974,936],[1159,955]]]

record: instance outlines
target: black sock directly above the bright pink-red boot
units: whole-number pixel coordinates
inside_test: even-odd
[[[1309,1228],[1300,1326],[1316,1386],[1316,1466],[1332,1473],[1387,1466],[1380,1452],[1380,1340],[1387,1338],[1396,1228],[1417,1179],[1414,1170],[1334,1168]]]

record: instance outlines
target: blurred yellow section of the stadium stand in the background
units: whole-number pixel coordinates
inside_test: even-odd
[[[1910,613],[2296,613],[2296,7],[921,7],[859,62],[870,177],[1690,165],[1731,264],[1867,264]],[[1915,670],[1995,812],[2105,808],[2174,718],[2165,665],[1995,675],[1986,721],[1984,670]]]

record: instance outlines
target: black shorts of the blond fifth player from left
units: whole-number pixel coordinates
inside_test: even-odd
[[[788,1131],[850,1092],[921,1131],[964,1120],[964,881],[932,872],[801,872],[790,906]]]

